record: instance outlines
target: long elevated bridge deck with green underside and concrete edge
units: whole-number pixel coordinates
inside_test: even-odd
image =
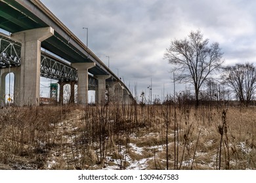
[[[0,0],[1,29],[10,33],[17,33],[41,27],[52,27],[54,29],[54,35],[41,42],[42,48],[70,63],[96,63],[95,67],[89,69],[89,73],[92,75],[110,75],[111,77],[108,80],[118,81],[129,91],[118,76],[91,52],[68,27],[60,22],[43,3],[35,0]]]

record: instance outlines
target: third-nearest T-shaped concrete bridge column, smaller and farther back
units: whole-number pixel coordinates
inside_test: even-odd
[[[98,88],[95,92],[95,103],[104,104],[106,95],[106,79],[110,78],[109,75],[97,75],[95,78],[98,80]]]

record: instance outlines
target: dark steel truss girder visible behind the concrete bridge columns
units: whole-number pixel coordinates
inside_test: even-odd
[[[20,66],[21,44],[0,35],[0,69]],[[77,70],[68,63],[41,52],[40,75],[55,80],[77,80]],[[89,75],[89,88],[95,89],[97,80]]]

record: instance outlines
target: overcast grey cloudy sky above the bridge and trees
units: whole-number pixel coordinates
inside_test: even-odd
[[[41,0],[135,94],[152,78],[152,94],[173,93],[171,65],[163,59],[171,40],[200,29],[219,42],[225,64],[256,61],[256,1],[238,0]],[[189,86],[187,86],[189,88]],[[177,85],[177,92],[184,85]]]

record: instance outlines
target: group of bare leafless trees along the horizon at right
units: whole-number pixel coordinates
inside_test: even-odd
[[[219,42],[210,44],[200,30],[191,31],[184,39],[171,41],[163,58],[171,64],[170,72],[175,73],[174,82],[192,84],[196,107],[202,99],[225,100],[225,94],[229,100],[231,93],[242,105],[247,106],[254,99],[256,68],[253,63],[236,63],[224,67]],[[177,98],[181,97],[179,93],[176,95]]]

